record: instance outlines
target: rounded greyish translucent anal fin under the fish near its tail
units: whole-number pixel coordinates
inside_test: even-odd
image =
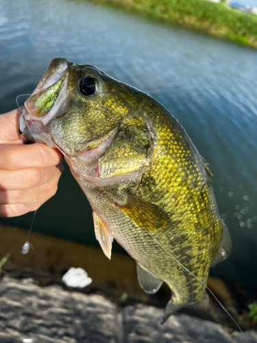
[[[162,285],[162,280],[160,280],[158,276],[149,272],[149,270],[138,262],[136,262],[136,274],[140,287],[143,288],[146,293],[154,294],[158,292]]]

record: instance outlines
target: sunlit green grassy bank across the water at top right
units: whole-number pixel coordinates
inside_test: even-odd
[[[257,16],[208,0],[96,0],[257,48]]]

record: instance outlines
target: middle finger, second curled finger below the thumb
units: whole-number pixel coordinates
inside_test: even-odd
[[[62,163],[48,168],[0,169],[0,191],[15,191],[43,185],[60,178],[63,169]]]

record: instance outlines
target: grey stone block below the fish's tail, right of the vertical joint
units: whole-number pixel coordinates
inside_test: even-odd
[[[138,305],[123,311],[125,343],[232,343],[219,324],[186,315],[171,316],[160,325],[162,310]],[[256,341],[257,342],[257,341]]]

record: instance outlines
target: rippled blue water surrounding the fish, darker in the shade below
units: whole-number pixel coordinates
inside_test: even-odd
[[[97,65],[156,97],[182,123],[210,163],[234,242],[232,257],[212,274],[256,285],[257,51],[86,1],[0,0],[0,113],[32,93],[56,56]],[[91,216],[66,170],[34,230],[97,244]],[[25,228],[31,220],[1,218]]]

